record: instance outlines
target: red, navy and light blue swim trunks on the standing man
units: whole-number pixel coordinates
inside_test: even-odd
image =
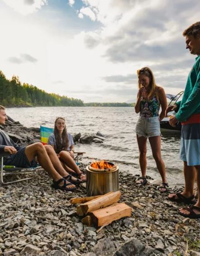
[[[188,166],[200,165],[200,114],[182,122],[180,158]]]

